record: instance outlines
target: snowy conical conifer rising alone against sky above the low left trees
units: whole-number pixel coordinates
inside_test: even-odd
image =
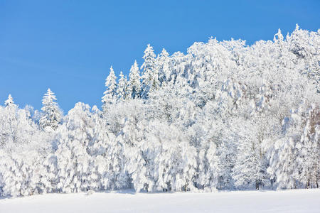
[[[43,114],[39,120],[39,124],[42,129],[46,129],[48,131],[55,130],[58,128],[58,124],[60,124],[63,113],[55,102],[56,100],[55,94],[49,88],[42,99],[43,107],[41,110]]]

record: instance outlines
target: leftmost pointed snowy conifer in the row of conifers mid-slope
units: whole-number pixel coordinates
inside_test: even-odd
[[[103,111],[107,110],[107,104],[113,104],[117,99],[117,81],[116,80],[117,80],[117,77],[114,75],[114,70],[111,66],[110,74],[105,80],[105,87],[107,87],[107,89],[103,93],[105,95],[102,97]]]

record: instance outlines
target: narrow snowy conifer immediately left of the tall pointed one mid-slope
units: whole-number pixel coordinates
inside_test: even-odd
[[[139,67],[137,64],[137,60],[134,60],[134,64],[132,65],[129,73],[129,84],[127,93],[129,98],[138,98],[140,97],[141,92],[141,82],[140,82],[140,75],[139,75]]]

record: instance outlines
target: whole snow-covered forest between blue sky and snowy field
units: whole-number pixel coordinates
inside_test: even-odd
[[[144,51],[110,68],[101,110],[0,106],[0,194],[313,188],[320,184],[320,31]],[[40,100],[40,97],[39,97]]]

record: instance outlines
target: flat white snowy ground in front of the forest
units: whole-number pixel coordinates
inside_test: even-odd
[[[320,190],[49,194],[2,199],[0,212],[320,212]]]

